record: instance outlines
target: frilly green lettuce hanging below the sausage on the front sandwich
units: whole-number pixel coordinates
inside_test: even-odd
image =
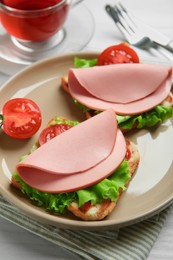
[[[124,160],[119,168],[109,177],[87,189],[75,192],[62,192],[51,194],[38,191],[27,185],[18,175],[13,174],[14,179],[21,185],[22,193],[26,194],[38,206],[44,206],[48,211],[65,214],[67,207],[72,201],[77,201],[81,207],[91,201],[92,205],[101,202],[103,199],[116,201],[120,189],[125,190],[125,184],[130,180],[128,162]]]

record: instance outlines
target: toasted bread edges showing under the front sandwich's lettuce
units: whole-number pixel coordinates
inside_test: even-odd
[[[130,168],[130,175],[133,176],[140,161],[140,154],[137,146],[130,140],[126,140],[126,145],[127,145],[126,159],[128,160],[128,164]],[[128,186],[128,184],[129,182],[126,183],[126,186]],[[122,192],[123,191],[121,190],[120,194],[122,194]],[[117,201],[114,202],[107,199],[107,200],[103,200],[102,203],[97,203],[93,206],[91,205],[91,203],[86,203],[86,205],[79,208],[78,203],[74,201],[70,204],[68,210],[71,211],[75,216],[79,217],[80,219],[86,221],[97,221],[97,220],[104,219],[106,216],[108,216],[113,211],[116,205],[117,205]]]

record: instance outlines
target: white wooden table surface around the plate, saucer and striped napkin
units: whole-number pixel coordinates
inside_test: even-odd
[[[95,33],[83,51],[101,51],[109,45],[123,40],[121,34],[114,26],[112,20],[106,15],[105,4],[113,4],[116,0],[85,0],[83,4],[92,12],[95,20]],[[173,39],[173,1],[172,0],[123,0],[122,3],[149,24]],[[87,21],[86,21],[87,22]],[[151,57],[147,52],[136,49],[143,59],[166,60],[162,55]],[[8,62],[0,60],[0,71],[11,69],[12,74],[20,70]],[[0,72],[0,83],[8,80],[9,75]],[[173,259],[173,212],[168,219],[152,248],[149,260]],[[53,260],[53,259],[78,259],[66,250],[56,246],[26,230],[0,218],[0,259],[3,260]]]

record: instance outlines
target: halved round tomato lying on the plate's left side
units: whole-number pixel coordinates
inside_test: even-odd
[[[37,104],[27,98],[14,98],[2,109],[3,130],[16,139],[27,139],[40,128],[42,117]]]

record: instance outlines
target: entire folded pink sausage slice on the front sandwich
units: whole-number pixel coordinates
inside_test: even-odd
[[[37,189],[69,191],[105,178],[119,166],[125,153],[125,140],[117,131],[115,114],[107,110],[38,148],[18,163],[17,171]],[[110,157],[114,163],[107,170],[104,165]]]

